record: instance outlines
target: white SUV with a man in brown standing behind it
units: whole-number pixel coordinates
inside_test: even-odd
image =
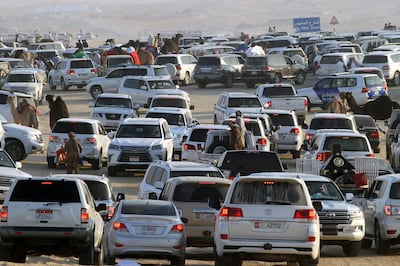
[[[100,121],[86,118],[60,118],[54,125],[47,145],[47,167],[55,168],[57,150],[68,140],[68,133],[74,132],[83,149],[79,155],[83,161],[100,169],[107,162],[110,138]]]

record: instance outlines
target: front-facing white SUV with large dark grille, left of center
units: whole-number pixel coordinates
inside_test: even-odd
[[[113,137],[108,148],[109,176],[126,169],[146,169],[154,160],[172,160],[173,135],[164,118],[127,118]]]

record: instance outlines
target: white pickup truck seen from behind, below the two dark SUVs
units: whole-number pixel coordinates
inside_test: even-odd
[[[308,100],[298,96],[296,89],[289,83],[262,84],[256,89],[264,108],[295,111],[299,124],[304,122],[308,113]]]

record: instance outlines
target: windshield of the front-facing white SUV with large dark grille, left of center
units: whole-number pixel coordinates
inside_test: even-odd
[[[121,125],[117,138],[161,138],[159,125]]]

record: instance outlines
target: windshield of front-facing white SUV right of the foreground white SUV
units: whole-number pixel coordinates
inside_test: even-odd
[[[343,201],[343,195],[331,182],[307,181],[311,200],[338,200]]]

